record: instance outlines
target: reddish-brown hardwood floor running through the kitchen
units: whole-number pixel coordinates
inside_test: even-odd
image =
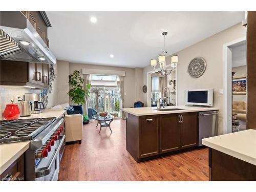
[[[83,126],[83,140],[67,143],[60,181],[208,181],[208,148],[136,163],[126,151],[125,120]]]

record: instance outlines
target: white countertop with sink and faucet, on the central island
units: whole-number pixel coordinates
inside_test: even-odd
[[[202,108],[202,107],[197,107],[197,106],[184,106],[184,105],[165,106],[164,109],[174,109],[174,108],[183,109],[183,110],[157,111],[156,106],[155,107],[147,107],[147,108],[122,108],[121,110],[126,112],[126,113],[130,113],[130,114],[133,114],[133,115],[136,115],[136,116],[219,110],[219,108]]]

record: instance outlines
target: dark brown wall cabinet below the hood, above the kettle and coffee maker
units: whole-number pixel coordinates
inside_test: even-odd
[[[1,82],[3,86],[30,86],[48,89],[49,64],[0,60]]]

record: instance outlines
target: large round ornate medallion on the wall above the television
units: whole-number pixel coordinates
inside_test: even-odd
[[[193,78],[198,78],[203,75],[206,69],[206,62],[202,57],[192,59],[188,65],[187,72]]]

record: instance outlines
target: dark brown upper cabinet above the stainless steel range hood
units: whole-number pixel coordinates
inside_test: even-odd
[[[42,18],[40,11],[22,11],[22,13],[29,19],[29,22],[35,28],[36,32],[45,41],[45,44],[49,47],[49,39],[47,33],[47,24]]]

